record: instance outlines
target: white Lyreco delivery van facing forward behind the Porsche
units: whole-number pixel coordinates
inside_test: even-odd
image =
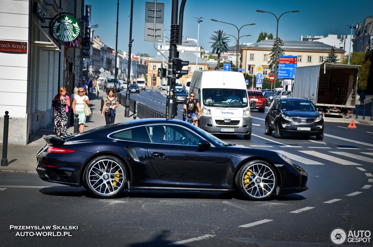
[[[251,139],[252,119],[245,78],[233,71],[193,73],[189,94],[194,92],[203,113],[199,127],[211,134],[239,134]]]

